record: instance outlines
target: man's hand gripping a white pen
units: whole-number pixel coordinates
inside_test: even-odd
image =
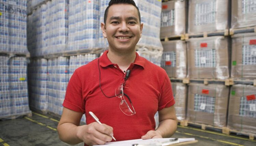
[[[112,141],[113,128],[97,122],[77,127],[77,137],[87,145],[103,145]]]

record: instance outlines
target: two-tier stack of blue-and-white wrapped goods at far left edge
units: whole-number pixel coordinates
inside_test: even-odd
[[[0,119],[31,116],[27,86],[27,1],[0,0]]]

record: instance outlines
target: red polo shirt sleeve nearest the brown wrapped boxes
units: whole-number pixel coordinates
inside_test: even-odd
[[[170,107],[175,103],[173,98],[171,81],[167,74],[165,76],[165,80],[162,84],[161,89],[162,89],[162,94],[161,94],[160,101],[158,103],[158,111],[162,110],[163,108]]]

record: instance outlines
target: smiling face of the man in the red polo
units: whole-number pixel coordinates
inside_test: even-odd
[[[135,50],[141,37],[142,27],[138,11],[131,4],[111,5],[106,24],[101,24],[103,36],[109,42],[109,49],[118,52]]]

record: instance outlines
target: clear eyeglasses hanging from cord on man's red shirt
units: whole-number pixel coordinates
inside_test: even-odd
[[[136,114],[136,112],[135,112],[135,110],[134,110],[134,107],[133,107],[133,105],[132,105],[132,103],[131,103],[130,98],[128,97],[127,94],[124,93],[124,85],[123,85],[123,83],[122,83],[119,87],[117,87],[117,88],[115,89],[115,96],[121,99],[121,102],[119,103],[119,108],[120,108],[120,110],[121,110],[125,115],[127,115],[127,116],[132,116],[132,115]],[[126,96],[126,97],[128,98],[128,100],[130,101],[130,105],[131,105],[132,108],[130,108],[130,106],[129,106],[129,104],[126,102],[124,96]]]

